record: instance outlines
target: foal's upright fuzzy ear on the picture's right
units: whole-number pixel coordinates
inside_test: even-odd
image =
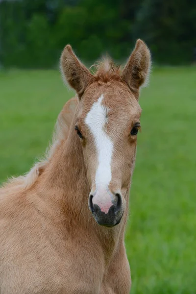
[[[139,89],[147,81],[150,71],[151,58],[147,45],[140,39],[131,53],[121,74],[122,79],[139,98]]]

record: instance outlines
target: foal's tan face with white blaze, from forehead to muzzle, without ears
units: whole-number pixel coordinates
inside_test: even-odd
[[[140,115],[136,98],[121,82],[92,84],[80,101],[75,130],[91,186],[89,208],[99,224],[113,226],[123,216]]]

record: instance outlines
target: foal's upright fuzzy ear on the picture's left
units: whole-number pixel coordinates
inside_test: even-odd
[[[95,77],[75,56],[70,45],[67,45],[61,54],[60,67],[65,79],[81,99],[85,89]]]

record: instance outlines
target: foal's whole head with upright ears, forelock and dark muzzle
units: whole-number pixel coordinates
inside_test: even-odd
[[[149,67],[150,53],[141,40],[122,71],[106,60],[93,75],[69,45],[61,56],[62,72],[80,99],[73,131],[91,187],[89,208],[100,225],[120,223],[128,205],[140,129],[138,99]]]

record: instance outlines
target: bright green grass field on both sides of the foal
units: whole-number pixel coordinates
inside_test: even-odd
[[[43,154],[72,95],[56,71],[0,73],[0,181]],[[140,104],[126,232],[131,293],[196,294],[196,67],[155,69]]]

